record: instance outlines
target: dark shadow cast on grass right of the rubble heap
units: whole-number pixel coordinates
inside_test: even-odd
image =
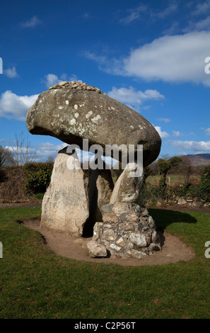
[[[156,222],[158,230],[164,230],[171,223],[185,222],[185,223],[196,223],[197,219],[188,213],[181,213],[175,210],[165,209],[148,209],[149,215],[153,217]]]

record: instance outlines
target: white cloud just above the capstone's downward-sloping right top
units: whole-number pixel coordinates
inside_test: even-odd
[[[159,93],[157,90],[146,89],[146,91],[136,90],[132,86],[129,88],[119,88],[117,89],[115,86],[112,87],[112,91],[108,91],[107,95],[115,98],[120,103],[124,103],[127,106],[131,106],[139,110],[139,106],[148,100],[161,100],[164,99],[165,96]]]

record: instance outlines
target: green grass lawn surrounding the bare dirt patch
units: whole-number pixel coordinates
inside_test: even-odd
[[[0,318],[209,318],[210,214],[151,209],[159,228],[196,256],[164,266],[118,266],[63,258],[16,220],[40,208],[0,210]]]

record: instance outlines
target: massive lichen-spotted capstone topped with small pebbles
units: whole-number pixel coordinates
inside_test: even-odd
[[[79,82],[60,82],[43,91],[29,109],[26,125],[32,134],[52,135],[83,148],[98,144],[143,145],[144,166],[151,164],[161,149],[161,137],[151,123],[128,106],[100,89]],[[112,155],[112,153],[111,153]],[[119,159],[121,157],[119,156]]]

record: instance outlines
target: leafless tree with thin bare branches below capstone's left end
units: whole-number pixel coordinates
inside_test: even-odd
[[[37,151],[31,147],[28,136],[25,138],[23,132],[15,134],[14,140],[9,140],[8,149],[13,155],[16,166],[25,165],[25,163],[35,162]]]

